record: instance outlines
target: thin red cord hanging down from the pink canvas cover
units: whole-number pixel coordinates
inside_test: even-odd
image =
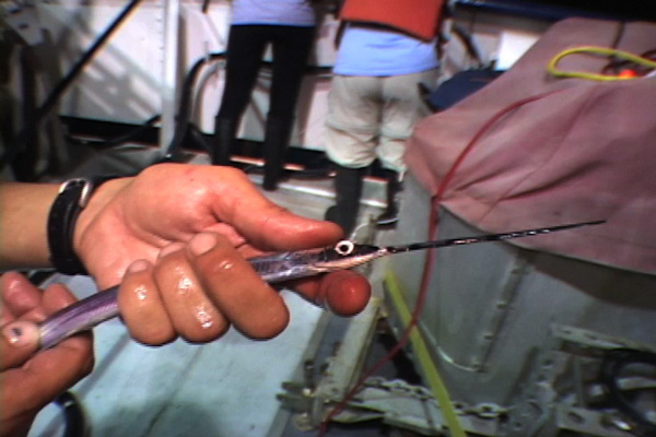
[[[458,155],[458,157],[456,158],[456,161],[452,164],[452,166],[449,167],[448,172],[446,173],[446,175],[444,176],[444,178],[440,182],[440,186],[437,187],[437,192],[431,198],[431,206],[432,208],[431,208],[431,214],[429,216],[429,239],[436,239],[437,238],[437,209],[438,209],[440,202],[442,201],[442,198],[444,197],[444,193],[446,192],[447,187],[449,186],[449,184],[452,182],[454,176],[456,175],[456,170],[460,167],[460,165],[465,161],[465,157],[467,157],[467,155],[469,154],[469,152],[471,152],[471,150],[479,142],[479,140],[481,139],[481,137],[496,121],[499,121],[502,117],[504,117],[508,113],[511,113],[511,111],[513,111],[513,110],[515,110],[515,109],[517,109],[517,108],[519,108],[519,107],[522,107],[522,106],[524,106],[526,104],[529,104],[531,102],[541,99],[541,98],[543,98],[543,97],[546,97],[548,95],[551,95],[553,93],[557,93],[557,92],[558,91],[555,91],[555,92],[552,91],[552,92],[548,92],[548,93],[543,93],[543,94],[538,94],[538,95],[535,95],[535,96],[531,96],[531,97],[527,97],[527,98],[524,98],[522,101],[517,101],[517,102],[515,102],[515,103],[506,106],[505,108],[501,109],[495,115],[493,115],[476,132],[476,134],[473,135],[473,138],[465,146],[465,149],[462,150],[462,152],[460,152],[460,154]],[[427,252],[427,255],[426,255],[426,260],[424,262],[424,268],[423,268],[423,272],[422,272],[422,276],[421,276],[420,292],[419,292],[419,295],[417,296],[417,302],[414,303],[414,310],[412,311],[412,317],[410,319],[410,322],[408,323],[408,327],[403,331],[403,334],[401,335],[401,338],[399,339],[399,341],[395,344],[395,346],[391,349],[391,351],[389,351],[387,353],[387,355],[385,355],[376,364],[374,364],[374,366],[372,368],[370,368],[367,371],[365,371],[364,376],[362,376],[360,378],[360,380],[358,381],[358,383],[355,383],[355,386],[353,386],[353,388],[351,390],[349,390],[349,392],[347,393],[347,395],[344,397],[344,399],[342,399],[340,401],[340,403],[337,404],[335,406],[335,409],[332,409],[332,411],[326,416],[326,418],[324,418],[324,422],[321,422],[321,426],[319,428],[319,437],[324,437],[326,435],[326,433],[328,430],[328,424],[329,424],[330,420],[343,411],[343,409],[347,406],[347,404],[353,398],[353,395],[355,395],[355,393],[358,391],[360,391],[360,389],[362,388],[362,386],[364,386],[364,381],[368,377],[371,377],[372,375],[374,375],[376,371],[378,371],[380,369],[380,367],[383,367],[386,363],[388,363],[389,361],[391,361],[395,357],[395,355],[397,353],[399,353],[399,351],[401,349],[403,349],[406,346],[406,344],[408,343],[408,340],[410,339],[410,333],[412,332],[412,329],[419,323],[419,318],[421,316],[421,311],[423,310],[424,303],[425,303],[425,299],[426,299],[427,290],[429,290],[429,280],[431,277],[431,268],[433,265],[433,255],[434,255],[434,250],[430,249],[429,252]]]

